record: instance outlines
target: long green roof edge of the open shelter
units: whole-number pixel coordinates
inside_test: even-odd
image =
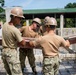
[[[24,14],[43,14],[43,13],[76,13],[76,8],[59,8],[59,9],[34,9],[23,10]]]

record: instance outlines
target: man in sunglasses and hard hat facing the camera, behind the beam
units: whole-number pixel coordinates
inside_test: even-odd
[[[20,28],[20,32],[22,32],[23,37],[30,37],[30,38],[36,38],[39,37],[38,33],[36,32],[39,30],[39,27],[41,25],[41,20],[39,18],[34,18],[32,21],[32,24],[30,26],[23,26]],[[21,62],[21,68],[22,71],[24,71],[25,68],[25,59],[26,56],[28,57],[29,64],[32,68],[33,73],[36,75],[36,66],[35,66],[35,57],[33,53],[33,48],[20,48],[20,62]]]

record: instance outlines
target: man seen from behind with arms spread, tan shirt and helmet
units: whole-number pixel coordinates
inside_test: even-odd
[[[61,36],[55,34],[57,21],[53,17],[44,19],[47,34],[40,36],[35,41],[30,41],[31,46],[40,45],[43,49],[43,75],[58,75],[59,47],[69,48],[70,43]]]

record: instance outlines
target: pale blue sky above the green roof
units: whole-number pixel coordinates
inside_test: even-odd
[[[76,2],[76,0],[5,0],[5,6],[21,6],[25,10],[55,9],[64,8],[68,3],[74,2]]]

